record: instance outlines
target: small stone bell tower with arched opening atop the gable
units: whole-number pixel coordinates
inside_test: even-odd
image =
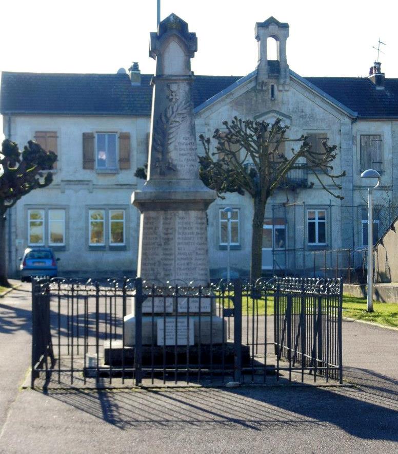
[[[269,17],[255,25],[255,38],[258,41],[257,89],[264,90],[270,79],[277,79],[278,90],[289,89],[289,65],[286,59],[286,41],[289,37],[289,24]],[[268,60],[267,39],[276,41],[277,61]]]

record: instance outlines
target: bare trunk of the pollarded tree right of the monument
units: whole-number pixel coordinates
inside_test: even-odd
[[[262,275],[263,261],[263,225],[266,202],[260,197],[253,200],[253,222],[251,235],[250,279],[256,280]]]

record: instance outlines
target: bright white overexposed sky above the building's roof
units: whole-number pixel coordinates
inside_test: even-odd
[[[367,76],[379,38],[382,71],[398,78],[396,17],[367,0],[161,0],[198,39],[195,74],[244,76],[256,67],[254,25],[269,16],[290,25],[287,60],[302,76]],[[12,0],[2,4],[0,71],[116,73],[138,61],[151,74],[149,33],[156,0]]]

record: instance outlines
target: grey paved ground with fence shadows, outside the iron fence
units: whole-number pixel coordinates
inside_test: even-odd
[[[18,388],[29,364],[28,298],[0,300],[2,454],[398,452],[397,331],[344,322],[355,388],[43,394]]]

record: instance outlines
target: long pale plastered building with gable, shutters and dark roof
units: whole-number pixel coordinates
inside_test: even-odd
[[[342,202],[319,185],[306,189],[314,179],[304,170],[291,173],[295,191],[278,190],[270,200],[263,268],[272,272],[310,269],[312,251],[364,244],[366,189],[360,174],[365,168],[382,174],[376,206],[387,199],[396,206],[398,197],[398,79],[385,78],[380,63],[368,78],[301,77],[288,66],[288,36],[288,24],[272,17],[257,23],[254,72],[196,76],[194,85],[197,135],[211,136],[235,115],[282,117],[290,137],[304,134],[313,146],[325,138],[337,145],[335,171],[347,174]],[[278,60],[267,59],[268,39],[276,40]],[[35,138],[58,154],[53,183],[32,191],[9,215],[11,273],[27,246],[48,245],[61,258],[60,275],[134,275],[139,216],[130,197],[143,183],[134,171],[147,161],[150,78],[137,64],[129,74],[3,73],[0,109],[6,137],[20,146]],[[210,269],[213,276],[225,272],[226,206],[234,209],[231,267],[244,275],[252,207],[238,194],[216,200],[208,210]],[[378,221],[380,234],[389,219]]]

